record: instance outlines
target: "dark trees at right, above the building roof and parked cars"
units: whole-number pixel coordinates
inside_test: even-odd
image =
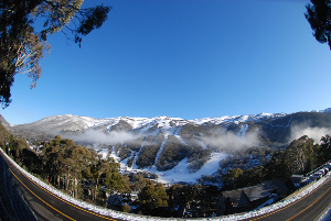
[[[331,159],[330,135],[321,137],[321,144],[307,135],[293,140],[284,151],[277,151],[265,164],[243,170],[241,167],[228,169],[221,175],[223,189],[254,186],[267,180],[280,179],[289,184],[292,175],[306,175]]]

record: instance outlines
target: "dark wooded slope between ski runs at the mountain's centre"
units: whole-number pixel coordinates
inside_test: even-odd
[[[139,168],[156,165],[160,172],[172,169],[179,162],[188,157],[188,169],[190,173],[199,170],[210,159],[212,154],[212,150],[203,148],[192,137],[185,137],[185,143],[183,143],[177,136],[168,135],[163,151],[157,159],[157,154],[163,141],[164,134],[162,133],[139,137],[125,144],[116,144],[115,152],[120,157],[120,161],[128,158],[127,165],[129,167],[132,166],[136,158],[136,165]]]

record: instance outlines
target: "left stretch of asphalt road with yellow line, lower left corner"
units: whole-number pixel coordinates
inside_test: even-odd
[[[102,221],[102,220],[119,220],[110,217],[99,216],[97,213],[90,212],[83,208],[79,208],[66,200],[58,198],[46,189],[42,188],[19,169],[17,169],[2,152],[0,152],[1,157],[8,164],[8,167],[14,178],[18,180],[21,190],[24,195],[25,200],[29,206],[40,218],[44,221],[66,221],[66,220],[88,220],[88,221]]]

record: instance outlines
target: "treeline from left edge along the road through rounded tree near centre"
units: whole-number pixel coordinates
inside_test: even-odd
[[[153,213],[157,208],[168,206],[169,197],[163,186],[149,179],[154,176],[121,175],[120,165],[114,158],[103,159],[94,150],[60,135],[38,143],[35,147],[42,151],[36,152],[24,139],[10,134],[0,124],[0,147],[29,173],[72,197],[105,207],[107,197],[119,196],[127,198],[141,214],[157,214]],[[130,199],[132,191],[139,192],[135,202]],[[111,208],[132,211],[129,203]]]

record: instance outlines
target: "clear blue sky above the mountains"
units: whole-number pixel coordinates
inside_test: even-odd
[[[206,117],[330,108],[331,52],[305,19],[308,0],[108,0],[79,48],[62,33],[36,88],[17,75],[11,124],[50,115]]]

